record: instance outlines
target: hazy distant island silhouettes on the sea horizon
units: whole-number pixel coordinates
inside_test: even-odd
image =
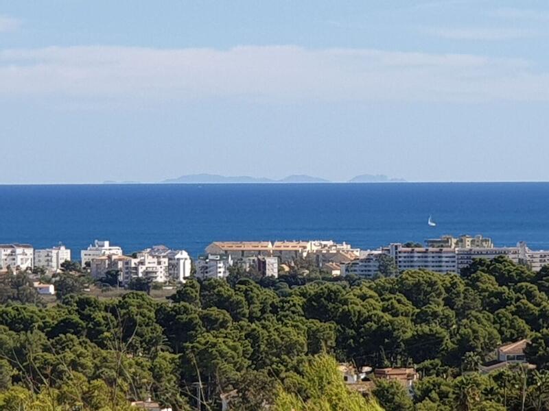
[[[405,179],[390,178],[386,175],[362,174],[353,177],[348,183],[389,183],[406,182]],[[165,184],[246,184],[246,183],[331,183],[330,180],[305,174],[288,175],[282,179],[270,179],[266,177],[250,177],[248,175],[226,176],[219,174],[191,174],[177,178],[165,179]]]

